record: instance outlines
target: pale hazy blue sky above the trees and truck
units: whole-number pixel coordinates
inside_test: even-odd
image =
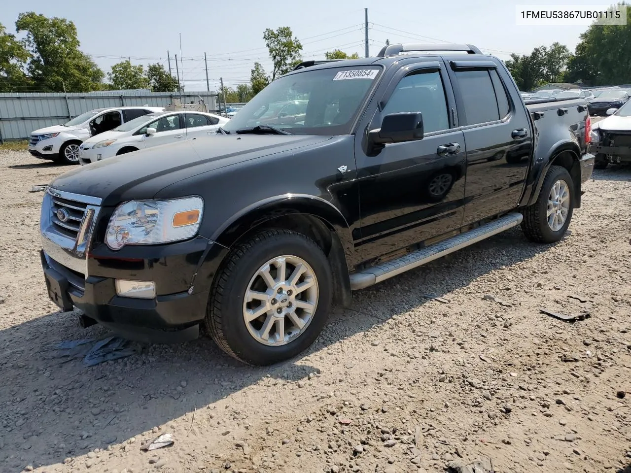
[[[516,5],[523,4],[528,0],[23,0],[4,1],[0,23],[15,33],[15,21],[24,11],[72,20],[81,50],[106,73],[128,57],[132,64],[160,62],[168,68],[169,51],[173,75],[177,54],[185,89],[202,91],[206,90],[204,52],[210,90],[218,88],[220,78],[232,87],[249,82],[255,61],[270,72],[271,59],[262,39],[266,28],[290,26],[303,44],[304,59],[322,59],[333,49],[365,55],[364,8],[369,15],[370,55],[377,54],[386,39],[391,43],[468,43],[504,60],[511,52],[529,54],[534,47],[553,42],[574,51],[586,26],[517,26]],[[535,0],[531,4],[594,2]]]

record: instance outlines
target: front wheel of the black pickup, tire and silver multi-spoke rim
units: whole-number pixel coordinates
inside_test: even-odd
[[[331,267],[295,231],[264,230],[236,247],[211,290],[206,329],[230,356],[272,365],[309,347],[331,309]]]

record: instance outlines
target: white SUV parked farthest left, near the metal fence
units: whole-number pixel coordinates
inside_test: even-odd
[[[86,139],[143,115],[163,110],[163,107],[95,108],[63,125],[33,131],[28,141],[28,152],[44,160],[78,164],[79,146]]]

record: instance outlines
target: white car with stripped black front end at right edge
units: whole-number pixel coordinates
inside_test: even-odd
[[[596,155],[594,169],[604,169],[610,163],[631,164],[631,103],[606,111],[606,119],[594,124],[591,131],[590,153]]]

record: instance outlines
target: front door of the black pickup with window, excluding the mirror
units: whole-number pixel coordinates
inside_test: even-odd
[[[396,67],[396,66],[393,66]],[[397,112],[423,114],[423,139],[386,144],[371,153],[358,134],[362,260],[372,260],[459,229],[463,219],[465,146],[444,63],[418,59],[377,91],[358,127],[381,126]]]

